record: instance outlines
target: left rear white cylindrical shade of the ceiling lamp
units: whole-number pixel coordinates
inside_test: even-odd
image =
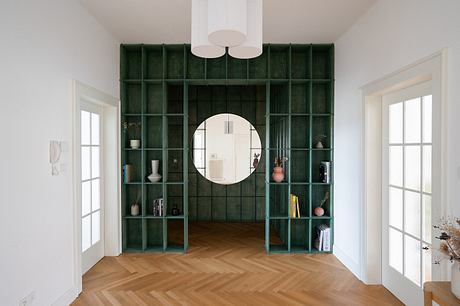
[[[225,54],[225,48],[208,40],[208,0],[192,0],[192,53],[203,58]]]

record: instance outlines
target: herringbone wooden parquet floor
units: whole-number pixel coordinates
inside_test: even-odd
[[[190,223],[187,254],[105,257],[73,305],[403,305],[333,255],[267,255],[264,225]]]

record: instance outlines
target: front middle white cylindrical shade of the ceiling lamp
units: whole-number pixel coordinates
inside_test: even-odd
[[[227,47],[243,43],[247,19],[247,0],[208,0],[209,41]]]

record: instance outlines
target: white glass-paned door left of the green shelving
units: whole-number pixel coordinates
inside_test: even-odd
[[[80,110],[82,274],[104,256],[101,123],[101,108],[82,103]]]

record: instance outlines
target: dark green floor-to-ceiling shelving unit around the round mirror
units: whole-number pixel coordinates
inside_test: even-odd
[[[267,252],[319,252],[314,249],[315,226],[325,223],[333,229],[333,185],[319,182],[319,163],[333,158],[333,45],[268,44],[261,56],[251,60],[228,55],[201,59],[191,54],[189,45],[121,45],[120,58],[121,122],[141,123],[140,149],[129,147],[136,131],[122,129],[122,166],[131,164],[135,170],[133,181],[122,186],[123,251],[186,252],[189,217],[215,220],[212,211],[218,206],[213,205],[225,201],[226,215],[219,220],[265,222]],[[209,112],[199,114],[196,105],[189,109],[191,101],[200,103],[189,97],[191,90],[200,87],[207,88],[211,99],[227,88],[225,108],[210,107]],[[245,109],[246,89],[250,95],[265,92],[264,101],[255,103],[254,110]],[[240,101],[235,102],[238,90]],[[200,116],[219,110],[246,117],[261,136],[263,154],[248,179],[225,190],[209,183],[209,195],[200,198],[197,184],[201,180],[189,154],[191,129],[200,123],[196,121],[205,119]],[[327,136],[323,149],[314,146],[318,135]],[[282,183],[271,179],[276,156],[289,159]],[[147,179],[152,159],[161,160],[163,178],[158,183]],[[190,188],[193,193],[189,195]],[[249,194],[252,190],[254,194]],[[313,209],[326,191],[330,192],[326,214],[315,217]],[[301,218],[290,217],[291,193],[299,196]],[[141,215],[131,216],[130,205],[137,198]],[[152,215],[155,198],[165,200],[168,213],[163,217]],[[180,208],[180,216],[170,214],[174,205]],[[245,205],[253,206],[248,209]],[[198,206],[208,215],[200,215]],[[236,214],[228,219],[238,208],[240,217]],[[333,242],[333,235],[331,239]]]

